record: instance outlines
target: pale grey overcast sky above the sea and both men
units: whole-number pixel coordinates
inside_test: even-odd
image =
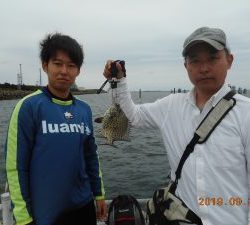
[[[99,88],[107,59],[126,61],[131,90],[189,89],[181,56],[200,26],[222,28],[235,61],[228,82],[250,89],[249,0],[0,0],[0,83],[39,80],[39,42],[61,32],[83,45],[77,85]],[[47,77],[42,72],[43,85]]]

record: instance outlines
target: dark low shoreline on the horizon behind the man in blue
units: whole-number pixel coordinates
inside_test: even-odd
[[[39,88],[37,88],[39,89]],[[84,95],[84,94],[96,94],[97,89],[84,89],[78,91],[72,91],[73,95]],[[33,93],[34,90],[16,90],[16,89],[0,89],[0,100],[13,100],[21,99],[28,94]],[[103,91],[104,92],[104,91]]]

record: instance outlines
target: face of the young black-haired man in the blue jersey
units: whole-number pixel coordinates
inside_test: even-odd
[[[68,93],[80,72],[76,64],[63,51],[58,51],[48,63],[43,63],[43,69],[48,75],[49,89],[55,95],[60,95],[60,92]]]

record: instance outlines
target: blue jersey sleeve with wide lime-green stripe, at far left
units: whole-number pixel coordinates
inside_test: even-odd
[[[34,142],[34,123],[29,102],[16,105],[6,141],[6,172],[16,224],[32,221],[29,192],[29,165]]]

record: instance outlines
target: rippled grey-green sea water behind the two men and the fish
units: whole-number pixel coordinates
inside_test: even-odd
[[[169,95],[165,91],[131,92],[137,104],[153,102]],[[79,95],[92,108],[93,120],[102,116],[111,105],[107,93]],[[0,193],[4,192],[5,141],[12,110],[18,100],[0,101]],[[106,199],[119,194],[131,194],[136,198],[150,198],[155,189],[166,186],[170,172],[168,157],[162,137],[155,129],[131,128],[129,141],[116,141],[115,146],[104,145],[99,131],[101,124],[93,122]]]

